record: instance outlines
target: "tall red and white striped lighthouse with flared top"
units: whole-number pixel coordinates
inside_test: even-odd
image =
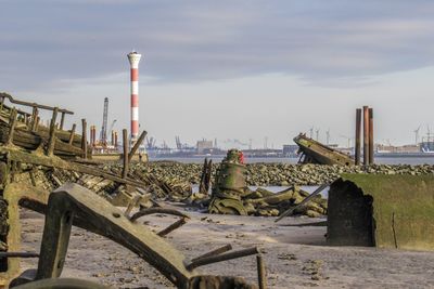
[[[141,54],[132,51],[128,53],[128,61],[131,65],[131,142],[139,136],[139,62]]]

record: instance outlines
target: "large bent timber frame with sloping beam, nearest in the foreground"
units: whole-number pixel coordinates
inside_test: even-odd
[[[22,206],[46,214],[40,249],[41,258],[35,280],[61,276],[66,259],[71,228],[75,225],[110,238],[137,253],[178,288],[202,288],[197,285],[199,279],[212,281],[216,286],[214,288],[227,288],[225,286],[234,281],[243,283],[245,286],[243,288],[256,288],[245,284],[240,278],[203,275],[194,271],[197,266],[257,254],[259,251],[256,248],[229,253],[224,253],[221,250],[213,251],[212,254],[189,262],[181,252],[171,247],[164,238],[144,225],[131,222],[119,209],[79,185],[65,184],[48,194],[35,191],[35,187],[29,185],[10,184],[4,189],[4,197],[9,202],[11,221],[14,222],[10,237],[14,238],[13,244],[11,242],[14,246],[11,248],[15,251],[20,250],[21,233],[17,207]],[[17,260],[11,258],[8,259],[8,262],[10,264],[9,277],[12,277],[18,270]],[[261,265],[258,272],[263,272],[263,270]],[[260,276],[265,276],[264,273],[260,273]],[[4,277],[4,273],[0,275],[0,278]],[[28,277],[18,277],[14,280],[14,284],[23,284],[25,279],[28,280]]]

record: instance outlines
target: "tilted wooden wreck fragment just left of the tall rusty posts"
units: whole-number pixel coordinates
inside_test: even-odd
[[[301,133],[294,137],[299,147],[301,163],[353,166],[355,161],[348,155],[321,144]]]

